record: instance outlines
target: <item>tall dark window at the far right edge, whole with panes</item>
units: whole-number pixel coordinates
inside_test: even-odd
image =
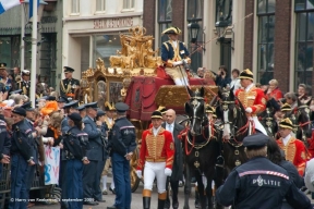
[[[314,2],[295,0],[294,11],[297,13],[294,88],[297,89],[301,83],[312,86]]]

